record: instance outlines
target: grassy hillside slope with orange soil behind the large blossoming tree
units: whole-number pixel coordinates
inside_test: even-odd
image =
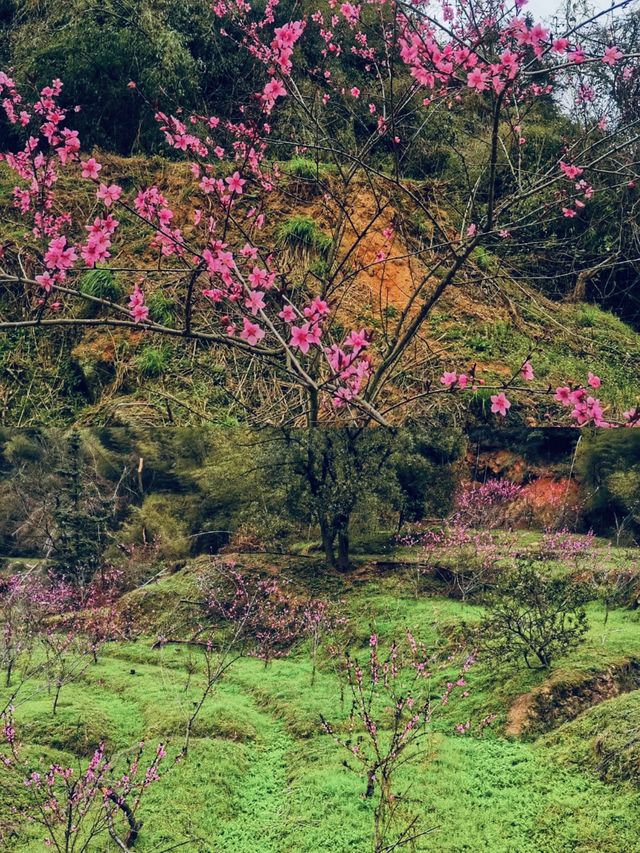
[[[123,159],[104,155],[107,178],[115,178],[125,189],[156,183],[177,200],[176,213],[188,233],[187,213],[194,200],[194,185],[185,164],[161,158]],[[324,180],[330,180],[328,173]],[[0,205],[11,208],[12,176],[0,169]],[[370,216],[374,199],[356,179],[351,199],[351,222],[357,229]],[[84,217],[90,216],[94,199],[91,187],[62,185],[62,198]],[[434,215],[449,227],[447,215],[434,202]],[[11,213],[3,222],[5,240],[18,238],[23,224]],[[292,269],[309,266],[313,246],[287,243],[286,226],[300,219],[311,221],[317,241],[331,245],[335,223],[330,221],[322,194],[313,182],[291,175],[285,189],[273,201],[272,229],[280,229],[283,251]],[[117,271],[104,281],[95,273],[87,286],[108,286],[128,293],[135,274],[143,265],[157,268],[157,255],[140,233],[138,223],[121,216],[122,235],[110,259]],[[388,246],[389,260],[372,266],[382,250],[382,229],[394,227]],[[269,226],[266,229],[269,236]],[[452,229],[453,233],[453,229]],[[284,235],[284,236],[282,236]],[[353,235],[342,234],[336,255]],[[429,258],[432,238],[428,223],[419,216],[400,216],[392,205],[380,219],[379,230],[360,242],[349,287],[340,295],[339,319],[380,333],[384,323],[406,304],[412,279],[423,272],[421,260]],[[416,260],[416,252],[421,253]],[[310,257],[311,256],[311,257]],[[106,281],[106,285],[104,282]],[[101,283],[102,282],[102,283]],[[145,285],[153,319],[179,325],[181,305],[174,301],[163,279],[149,276]],[[0,313],[9,316],[15,294],[0,300]],[[375,341],[374,341],[375,343]],[[601,376],[599,396],[619,415],[623,407],[637,402],[640,387],[640,334],[615,316],[593,305],[555,302],[507,269],[486,250],[476,250],[465,274],[451,287],[424,324],[405,370],[419,369],[420,379],[435,380],[443,369],[470,369],[487,382],[506,379],[531,357],[536,375],[549,384],[585,382],[587,370]],[[92,423],[145,422],[154,425],[202,420],[242,420],[230,385],[229,356],[214,347],[176,339],[159,339],[150,333],[88,329],[78,332],[14,332],[0,337],[0,422],[27,426],[46,420]],[[440,405],[440,403],[439,403]],[[476,406],[476,414],[483,406]],[[540,422],[539,412],[526,404],[514,406],[512,415],[524,423]],[[544,423],[544,419],[542,420]]]

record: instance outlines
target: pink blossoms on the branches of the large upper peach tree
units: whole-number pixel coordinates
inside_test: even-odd
[[[387,0],[381,3],[385,6]],[[1,74],[0,103],[9,121],[17,128],[25,128],[27,136],[23,150],[3,155],[20,178],[20,185],[14,190],[14,204],[23,214],[32,216],[34,235],[46,238],[47,248],[44,257],[38,257],[34,274],[44,291],[44,297],[36,303],[41,313],[64,307],[60,302],[50,302],[49,295],[72,271],[81,272],[79,262],[84,268],[92,268],[109,260],[119,226],[111,209],[120,207],[133,211],[148,228],[149,245],[160,262],[174,256],[180,266],[184,265],[184,279],[188,282],[185,333],[192,331],[194,318],[194,323],[200,321],[209,336],[211,324],[219,324],[218,340],[245,353],[253,349],[255,355],[280,356],[287,370],[303,385],[322,389],[325,399],[335,407],[362,404],[376,352],[371,333],[354,329],[346,334],[340,331],[340,338],[332,338],[338,325],[333,322],[338,300],[327,295],[332,293],[331,288],[321,283],[317,294],[305,295],[301,302],[300,291],[291,283],[286,252],[281,251],[277,239],[271,247],[268,245],[275,230],[266,227],[273,225],[268,220],[268,195],[282,177],[269,147],[271,114],[288,95],[292,96],[290,100],[304,100],[293,72],[298,55],[304,55],[299,46],[305,36],[317,35],[321,39],[317,67],[301,65],[303,73],[317,85],[320,113],[322,105],[332,97],[342,98],[350,114],[361,110],[366,120],[374,123],[374,136],[376,127],[379,136],[389,135],[394,151],[405,145],[407,137],[398,126],[399,119],[390,120],[387,105],[376,103],[374,93],[380,69],[386,68],[389,55],[399,53],[416,81],[417,93],[420,97],[425,95],[424,106],[444,99],[447,109],[467,95],[477,98],[490,94],[498,104],[525,105],[548,95],[570,72],[579,69],[578,74],[582,75],[585,63],[597,61],[604,65],[599,67],[600,74],[608,73],[609,67],[620,62],[624,62],[625,71],[629,70],[632,57],[624,57],[615,45],[603,48],[599,55],[590,46],[576,43],[575,35],[555,37],[548,28],[524,16],[522,5],[518,2],[499,16],[489,12],[467,16],[463,7],[442,2],[441,18],[446,26],[433,16],[394,8],[394,27],[382,24],[373,39],[371,22],[365,26],[364,7],[360,4],[332,0],[327,9],[309,15],[309,20],[291,21],[282,17],[277,20],[285,14],[277,0],[267,0],[259,7],[218,0],[214,12],[224,19],[223,32],[230,33],[224,25],[231,21],[232,38],[258,60],[262,77],[252,102],[239,105],[233,120],[195,112],[185,115],[180,110],[176,110],[177,115],[156,114],[168,145],[189,159],[197,207],[182,228],[175,227],[178,209],[169,204],[157,186],[140,189],[130,201],[118,183],[105,177],[108,170],[95,157],[80,158],[78,134],[64,126],[66,111],[60,107],[59,80],[43,88],[33,105],[25,105],[15,81]],[[358,63],[357,81],[348,83],[331,67],[335,58],[347,53]],[[545,72],[545,82],[536,82],[540,71]],[[357,85],[352,85],[354,82]],[[585,81],[582,84],[584,88]],[[135,85],[130,83],[133,88]],[[416,106],[419,109],[419,104]],[[526,114],[526,109],[519,109]],[[513,124],[512,132],[518,144],[525,143],[520,124]],[[302,150],[302,146],[296,150]],[[567,147],[558,161],[557,173],[549,179],[552,185],[561,187],[556,201],[568,218],[575,217],[594,193],[585,177],[589,163],[582,156]],[[70,213],[56,212],[54,186],[63,167],[90,181],[104,208],[92,225],[85,226],[86,239],[84,232],[82,240],[72,239]],[[475,214],[471,211],[472,220],[476,219]],[[471,221],[462,246],[471,248],[488,233],[509,236],[512,231],[508,225],[501,222],[500,227],[482,218]],[[385,228],[383,235],[391,244],[393,229]],[[385,245],[384,251],[375,255],[376,263],[387,261],[389,248]],[[149,317],[144,284],[139,280],[129,298],[128,308],[135,323],[145,323]],[[528,360],[520,375],[524,382],[535,378]],[[474,369],[467,373],[446,371],[440,382],[450,391],[475,392],[483,384],[476,379]],[[491,411],[506,417],[512,406],[512,392],[522,393],[524,389],[510,382],[495,390]],[[534,390],[528,393],[531,395]],[[567,405],[562,396],[564,390],[557,389],[556,399]],[[569,388],[569,394],[575,423],[608,425],[601,403],[585,389]],[[628,411],[627,421],[640,421],[636,409]]]

